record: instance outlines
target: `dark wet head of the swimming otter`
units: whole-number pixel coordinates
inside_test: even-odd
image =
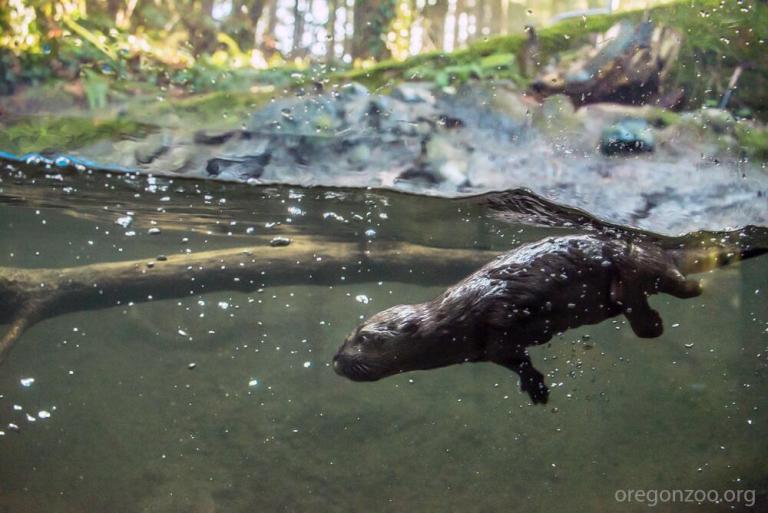
[[[399,305],[379,312],[357,328],[333,358],[337,374],[354,381],[376,381],[435,366],[435,333],[426,304]],[[439,358],[439,354],[438,354]]]

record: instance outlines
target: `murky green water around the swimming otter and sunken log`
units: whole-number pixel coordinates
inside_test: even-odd
[[[152,259],[277,235],[503,251],[566,232],[502,223],[469,200],[377,191],[29,169],[1,187],[6,267]],[[127,228],[116,224],[129,212]],[[699,298],[654,297],[666,325],[658,339],[638,339],[619,317],[532,348],[552,389],[535,407],[514,374],[487,363],[376,383],[332,371],[362,318],[431,299],[467,272],[436,277],[429,267],[400,281],[375,268],[319,285],[267,279],[247,293],[34,325],[0,367],[0,511],[648,509],[616,502],[626,489],[756,494],[752,508],[658,511],[768,504],[766,257],[704,275]]]

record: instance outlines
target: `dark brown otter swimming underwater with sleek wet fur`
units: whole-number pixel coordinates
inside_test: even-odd
[[[663,332],[648,297],[691,298],[700,272],[765,252],[719,247],[667,249],[658,241],[606,234],[547,238],[494,260],[432,301],[399,305],[358,327],[333,358],[354,381],[466,362],[492,362],[517,373],[534,404],[549,389],[527,348],[570,328],[624,314],[638,337]]]

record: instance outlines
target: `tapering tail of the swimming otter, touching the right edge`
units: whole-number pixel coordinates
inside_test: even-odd
[[[746,226],[730,232],[693,232],[662,241],[683,274],[711,271],[768,253],[768,228]]]

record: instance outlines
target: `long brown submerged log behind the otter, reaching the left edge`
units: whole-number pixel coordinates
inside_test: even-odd
[[[448,284],[496,253],[440,249],[405,242],[329,242],[296,237],[291,244],[237,247],[62,269],[0,267],[0,363],[24,331],[43,319],[129,302],[268,285],[339,284],[372,280]]]

